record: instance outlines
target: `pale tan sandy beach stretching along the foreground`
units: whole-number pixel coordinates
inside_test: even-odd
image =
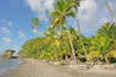
[[[116,77],[116,70],[91,69],[78,72],[65,65],[53,65],[38,59],[24,59],[17,69],[1,77]]]

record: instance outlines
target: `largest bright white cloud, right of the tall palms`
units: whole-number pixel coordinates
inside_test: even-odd
[[[98,30],[97,26],[97,2],[96,0],[82,0],[81,7],[78,8],[78,21],[81,31],[83,34],[92,34],[92,32],[95,32]]]

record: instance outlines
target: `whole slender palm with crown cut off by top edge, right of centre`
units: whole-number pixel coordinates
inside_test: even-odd
[[[78,16],[77,16],[77,12],[78,12],[78,7],[80,7],[81,0],[73,0],[73,2],[74,2],[74,6],[73,6],[74,12],[75,12],[75,14],[76,14],[76,16],[74,16],[74,18],[76,19],[76,22],[77,22],[77,28],[78,28],[78,33],[80,33],[80,40],[81,40],[81,43],[82,43],[82,46],[83,46],[83,50],[84,50],[85,56],[86,56],[87,53],[86,53],[86,50],[85,50],[85,46],[84,46],[84,42],[83,42],[83,40],[82,40],[82,33],[81,33],[81,29],[80,29]]]

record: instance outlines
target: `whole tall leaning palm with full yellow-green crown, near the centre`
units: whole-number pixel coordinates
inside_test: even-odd
[[[56,0],[54,3],[54,11],[51,11],[49,15],[53,16],[52,20],[53,28],[60,28],[60,26],[66,28],[66,33],[70,40],[73,58],[76,59],[73,42],[71,40],[71,35],[66,26],[66,16],[75,16],[74,12],[71,10],[73,4],[74,3],[72,2],[72,0],[66,0],[66,1]]]

